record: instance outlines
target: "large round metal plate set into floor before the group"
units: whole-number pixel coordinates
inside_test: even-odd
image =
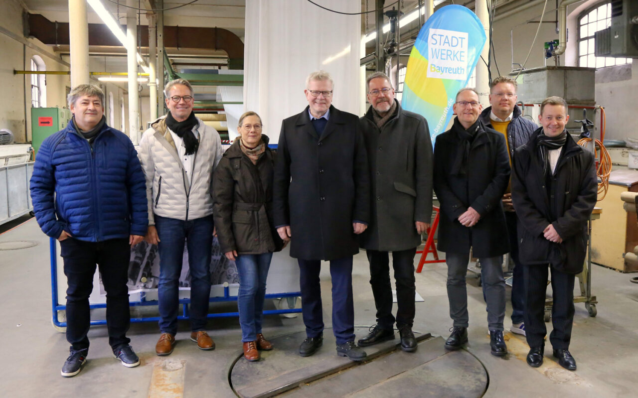
[[[487,372],[464,350],[448,352],[441,337],[418,335],[419,348],[406,353],[397,339],[366,347],[368,360],[337,357],[332,330],[311,357],[297,354],[304,332],[272,339],[273,351],[261,351],[259,362],[239,358],[230,381],[244,398],[264,397],[481,397]],[[356,330],[361,336],[367,328]]]

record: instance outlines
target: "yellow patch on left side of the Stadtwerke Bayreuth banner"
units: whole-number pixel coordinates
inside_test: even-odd
[[[426,102],[436,107],[447,107],[447,92],[440,78],[427,78],[427,59],[416,47],[412,48],[408,59],[408,70],[405,76],[405,84]],[[427,80],[426,80],[427,79]]]

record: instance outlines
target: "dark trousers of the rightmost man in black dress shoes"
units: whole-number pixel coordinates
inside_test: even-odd
[[[530,347],[544,345],[547,328],[545,328],[545,293],[547,291],[547,265],[530,265],[523,267],[525,272],[525,288],[527,305],[525,307],[525,334]],[[568,349],[572,339],[572,323],[574,321],[574,279],[575,276],[555,269],[552,272],[552,330],[549,341],[554,350]]]

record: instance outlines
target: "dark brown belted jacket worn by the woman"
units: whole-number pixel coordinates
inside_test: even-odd
[[[266,145],[257,164],[242,152],[239,140],[226,150],[213,174],[213,216],[222,253],[262,254],[281,250],[272,221],[275,152]]]

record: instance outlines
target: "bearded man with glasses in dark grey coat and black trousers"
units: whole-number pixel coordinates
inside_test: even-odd
[[[370,163],[371,219],[360,244],[370,263],[377,324],[359,346],[394,339],[391,251],[401,348],[415,351],[414,256],[432,216],[432,142],[426,119],[401,108],[385,73],[370,75],[367,88],[370,108],[361,124]]]

